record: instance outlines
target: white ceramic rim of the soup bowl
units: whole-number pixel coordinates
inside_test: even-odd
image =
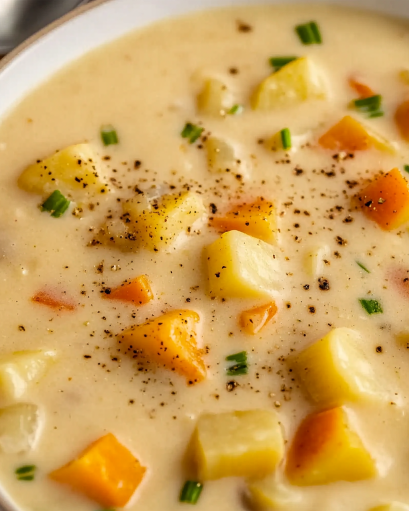
[[[126,32],[195,10],[261,3],[339,4],[409,18],[409,0],[97,0],[54,22],[1,62],[0,122],[13,105],[59,68]],[[4,511],[19,511],[1,484],[0,505]]]

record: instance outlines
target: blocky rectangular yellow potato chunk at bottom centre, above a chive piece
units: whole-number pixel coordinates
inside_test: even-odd
[[[284,440],[274,410],[201,415],[191,443],[200,480],[263,477],[284,456]]]

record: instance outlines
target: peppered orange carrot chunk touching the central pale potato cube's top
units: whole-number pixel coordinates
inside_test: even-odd
[[[212,218],[210,223],[222,233],[239,230],[270,243],[274,241],[276,230],[275,207],[272,202],[259,197],[255,202],[234,207],[223,217]]]

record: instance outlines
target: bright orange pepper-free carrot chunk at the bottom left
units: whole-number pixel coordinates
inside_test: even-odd
[[[145,467],[112,434],[99,438],[77,459],[50,473],[104,507],[123,507],[137,489]]]

